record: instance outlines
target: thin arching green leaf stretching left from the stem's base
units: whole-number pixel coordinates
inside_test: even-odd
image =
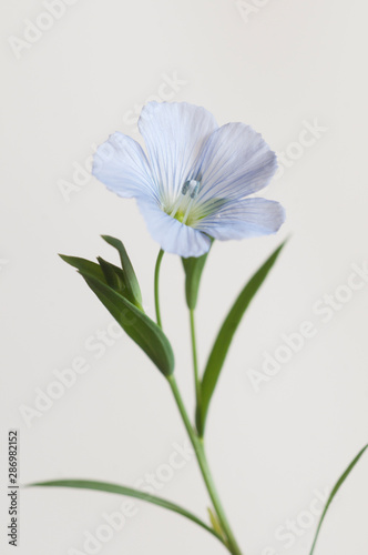
[[[171,501],[163,500],[162,497],[156,497],[155,495],[150,495],[144,492],[140,492],[139,490],[133,490],[131,487],[125,487],[122,485],[116,485],[116,484],[110,484],[106,482],[92,482],[88,480],[57,480],[52,482],[39,482],[35,484],[29,484],[27,487],[73,487],[73,488],[80,488],[80,490],[94,490],[99,492],[108,492],[108,493],[114,493],[119,495],[126,495],[127,497],[135,497],[136,500],[141,501],[146,501],[147,503],[152,503],[154,505],[159,505],[160,507],[166,508],[167,511],[173,511],[174,513],[177,513],[185,518],[188,518],[190,521],[194,522],[202,528],[206,529],[215,536],[217,539],[219,539],[222,543],[223,538],[221,537],[217,532],[212,529],[209,526],[207,526],[203,521],[201,521],[197,516],[194,514],[190,513],[185,508],[181,507],[180,505],[176,505],[175,503],[172,503]]]

